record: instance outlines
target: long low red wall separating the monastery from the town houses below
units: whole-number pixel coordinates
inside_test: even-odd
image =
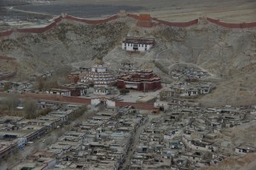
[[[0,92],[0,96],[8,96],[8,95],[10,94],[5,92]],[[77,103],[77,104],[85,104],[85,105],[91,104],[91,99],[62,96],[62,95],[55,95],[55,94],[26,93],[26,94],[18,94],[18,97],[21,99],[42,99],[42,100],[49,100],[49,101]],[[133,103],[133,102],[115,101],[115,105],[116,106],[132,105],[135,108],[142,109],[142,110],[152,110],[154,108],[154,103]]]

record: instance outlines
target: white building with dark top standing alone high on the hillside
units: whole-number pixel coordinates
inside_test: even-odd
[[[125,41],[122,43],[122,49],[126,51],[148,51],[154,47],[154,38],[143,38],[143,37],[125,37]]]

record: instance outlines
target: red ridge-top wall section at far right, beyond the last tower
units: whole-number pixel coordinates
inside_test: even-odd
[[[218,26],[224,26],[226,28],[253,28],[256,26],[256,22],[242,22],[242,23],[229,23],[229,22],[223,22],[220,20],[207,18],[207,20],[215,25]]]

